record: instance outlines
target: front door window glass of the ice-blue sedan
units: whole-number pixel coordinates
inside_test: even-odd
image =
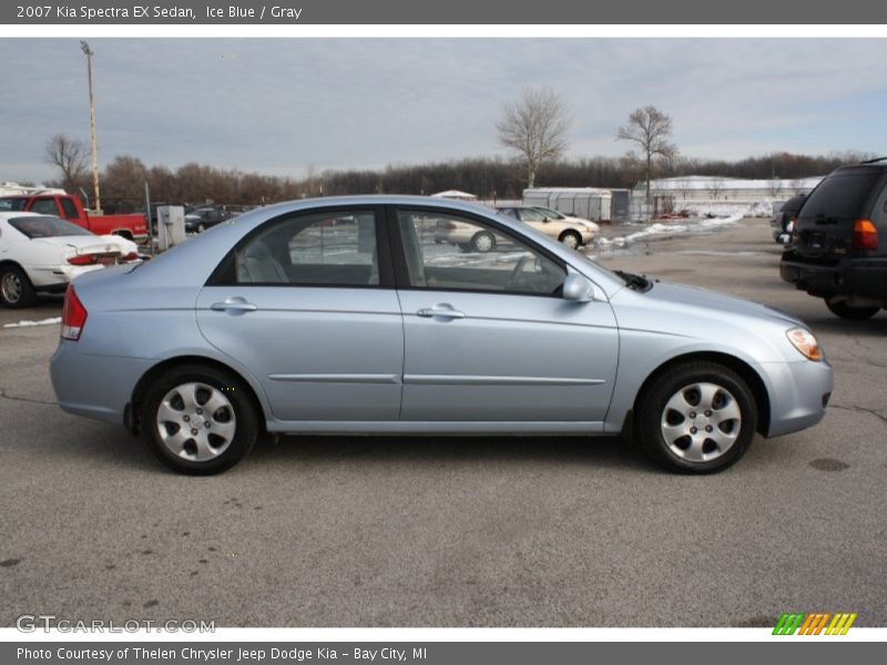
[[[458,215],[398,213],[410,286],[549,296],[567,272],[522,241]]]

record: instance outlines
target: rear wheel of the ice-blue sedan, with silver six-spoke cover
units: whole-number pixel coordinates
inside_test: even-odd
[[[248,388],[226,372],[186,365],[163,374],[147,390],[142,427],[154,454],[192,475],[231,469],[252,450],[258,415]]]

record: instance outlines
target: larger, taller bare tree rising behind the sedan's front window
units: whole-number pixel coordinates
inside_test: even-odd
[[[553,90],[524,90],[519,100],[506,104],[502,120],[496,123],[499,143],[524,162],[528,187],[536,185],[536,174],[544,162],[567,151],[569,126],[567,110]]]

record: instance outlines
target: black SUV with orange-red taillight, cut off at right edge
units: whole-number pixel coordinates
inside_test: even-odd
[[[887,157],[842,166],[819,183],[801,208],[779,274],[843,318],[887,307]]]

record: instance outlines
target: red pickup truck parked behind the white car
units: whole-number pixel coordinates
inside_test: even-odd
[[[119,235],[136,243],[147,238],[144,215],[90,215],[80,198],[70,194],[0,196],[0,212],[3,211],[54,215],[96,235]]]

